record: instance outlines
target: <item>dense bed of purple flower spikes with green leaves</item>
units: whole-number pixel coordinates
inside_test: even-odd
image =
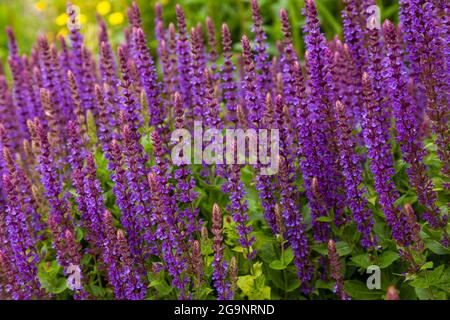
[[[305,1],[304,57],[284,9],[269,55],[256,0],[239,52],[181,6],[156,6],[157,52],[136,4],[117,50],[98,18],[98,59],[72,5],[29,55],[8,29],[0,298],[448,298],[450,5],[400,0],[395,26],[344,3],[328,40]],[[277,129],[278,170],[173,161],[198,121]]]

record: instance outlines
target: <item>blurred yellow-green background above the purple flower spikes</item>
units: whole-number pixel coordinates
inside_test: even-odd
[[[229,25],[233,40],[239,45],[243,33],[249,33],[251,28],[250,0],[137,0],[142,12],[144,28],[149,44],[154,49],[154,5],[160,2],[163,6],[166,26],[175,22],[175,4],[183,6],[190,26],[198,21],[204,22],[210,16],[219,31],[222,22]],[[122,41],[123,29],[127,25],[126,8],[132,0],[73,0],[80,7],[82,33],[88,47],[96,51],[96,19],[95,14],[101,14],[110,30],[114,43]],[[304,18],[301,14],[303,0],[259,0],[264,17],[266,32],[270,39],[271,50],[275,50],[275,39],[281,39],[278,11],[286,8],[293,25],[294,41],[297,49],[302,50],[303,41],[301,28]],[[341,33],[340,10],[341,0],[316,0],[322,22],[323,31],[328,38]],[[38,34],[46,34],[50,39],[58,34],[67,34],[65,15],[65,0],[0,0],[0,59],[5,62],[8,54],[6,45],[6,26],[12,26],[22,53],[28,53]],[[397,2],[380,1],[382,18],[396,20]]]

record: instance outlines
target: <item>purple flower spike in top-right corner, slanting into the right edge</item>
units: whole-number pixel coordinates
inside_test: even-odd
[[[444,1],[445,2],[445,1]],[[400,21],[404,32],[412,76],[425,94],[425,111],[436,134],[442,172],[450,176],[450,75],[449,49],[440,37],[439,21],[433,1],[400,1]],[[448,12],[448,11],[447,11]]]

